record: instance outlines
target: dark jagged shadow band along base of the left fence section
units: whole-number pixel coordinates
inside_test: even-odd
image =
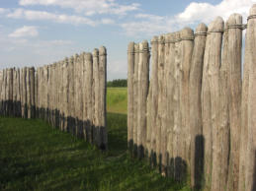
[[[100,150],[106,150],[105,128],[95,126],[92,121],[80,120],[77,117],[65,117],[58,109],[38,108],[35,105],[22,104],[21,101],[2,100],[0,102],[0,115],[41,118],[52,127],[71,133],[73,136],[85,139],[96,145]]]

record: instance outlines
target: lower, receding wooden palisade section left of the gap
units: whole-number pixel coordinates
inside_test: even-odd
[[[0,114],[42,118],[107,149],[107,50],[76,54],[51,65],[0,72]]]

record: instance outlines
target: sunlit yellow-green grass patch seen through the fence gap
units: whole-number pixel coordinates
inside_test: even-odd
[[[107,109],[113,113],[128,113],[128,88],[107,89]]]

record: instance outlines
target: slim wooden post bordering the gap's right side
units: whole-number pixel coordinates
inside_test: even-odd
[[[134,73],[134,42],[128,44],[128,148],[133,146],[133,73]]]

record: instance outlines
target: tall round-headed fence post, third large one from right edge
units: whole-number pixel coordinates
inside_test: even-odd
[[[219,127],[218,119],[220,113],[220,101],[219,101],[219,68],[221,63],[221,42],[222,42],[222,33],[223,31],[223,20],[220,17],[217,17],[213,21],[213,25],[209,27],[210,35],[212,35],[212,42],[210,47],[210,61],[208,69],[208,78],[210,86],[210,98],[211,98],[211,123],[212,123],[212,137],[213,137],[213,172],[212,172],[212,190],[219,190],[219,170],[218,167],[221,165],[221,145],[218,141]]]

